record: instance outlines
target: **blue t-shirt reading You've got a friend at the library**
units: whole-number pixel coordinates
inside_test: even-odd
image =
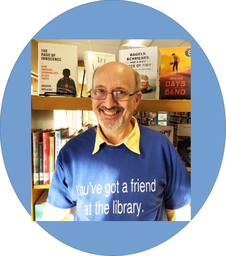
[[[47,202],[77,205],[74,220],[166,220],[165,209],[190,203],[190,174],[168,138],[140,128],[140,152],[103,143],[92,155],[90,128],[60,150]]]

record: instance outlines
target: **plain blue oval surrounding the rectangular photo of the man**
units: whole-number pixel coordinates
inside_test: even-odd
[[[131,15],[133,14],[134,17],[135,13],[145,13],[150,18],[146,23],[139,18],[131,21]],[[77,26],[79,21],[82,21],[82,26],[81,23]],[[194,38],[177,22],[151,7],[113,0],[87,3],[70,9],[49,22],[33,38],[141,39],[139,33],[141,28],[142,31],[146,31],[148,39],[191,39],[193,151],[191,218],[194,218],[216,181],[225,143],[225,112],[218,80],[209,60]],[[19,200],[29,213],[30,58],[29,42],[8,79],[0,123],[6,170]],[[212,104],[209,104],[210,97]],[[13,120],[8,120],[8,113],[13,113]],[[214,136],[209,136],[210,130],[203,126],[203,121],[200,122],[204,113],[218,120],[218,130]],[[15,137],[8,136],[15,133],[19,145],[16,154],[12,152]],[[12,154],[14,154],[13,161]],[[207,157],[209,155],[211,158]],[[100,255],[125,255],[145,251],[165,242],[187,224],[188,222],[39,222],[43,229],[59,241],[78,250]]]

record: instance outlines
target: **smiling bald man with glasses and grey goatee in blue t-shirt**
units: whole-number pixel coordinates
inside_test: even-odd
[[[168,220],[190,203],[190,175],[172,143],[132,117],[139,90],[129,65],[109,62],[95,71],[98,126],[61,149],[43,220],[63,219],[75,206],[74,220]]]

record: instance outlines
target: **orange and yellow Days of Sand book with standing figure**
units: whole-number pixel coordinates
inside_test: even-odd
[[[191,47],[159,48],[159,99],[191,99]]]

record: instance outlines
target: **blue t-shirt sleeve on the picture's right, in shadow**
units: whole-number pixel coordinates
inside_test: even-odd
[[[167,174],[165,208],[176,210],[191,202],[191,177],[181,157],[176,156]]]

